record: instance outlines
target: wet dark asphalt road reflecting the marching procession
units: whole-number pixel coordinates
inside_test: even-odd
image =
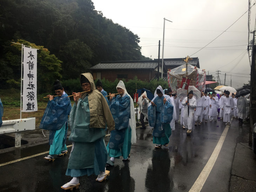
[[[228,130],[220,154],[202,191],[229,191],[229,180],[236,143],[247,137],[235,119]],[[180,124],[170,136],[168,148],[154,149],[150,129],[136,129],[137,143],[132,145],[129,161],[116,159],[107,166],[110,176],[98,183],[96,176],[80,177],[80,187],[74,191],[189,191],[208,162],[225,124],[221,121],[196,126],[190,136]],[[109,138],[106,138],[106,143]],[[70,145],[70,142],[67,143]],[[0,164],[49,150],[48,144],[0,154]],[[71,150],[71,147],[68,148]],[[47,154],[46,154],[47,155]],[[0,166],[0,191],[64,191],[70,181],[66,176],[68,156],[49,162],[40,155],[20,162]]]

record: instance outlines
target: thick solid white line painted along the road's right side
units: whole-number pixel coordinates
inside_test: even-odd
[[[221,147],[223,145],[223,142],[227,136],[227,132],[229,129],[230,125],[227,125],[224,129],[224,131],[222,132],[221,138],[218,141],[213,153],[211,154],[211,157],[209,158],[206,166],[204,166],[202,172],[200,173],[200,175],[198,176],[198,178],[196,179],[194,185],[191,187],[191,189],[189,190],[189,192],[194,192],[194,191],[201,191],[204,183],[206,182],[206,179],[208,178],[211,169],[213,169],[213,166],[216,162],[216,159],[221,151]]]

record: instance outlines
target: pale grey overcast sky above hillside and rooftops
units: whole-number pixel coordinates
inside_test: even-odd
[[[248,0],[92,1],[95,9],[102,11],[103,16],[140,37],[139,45],[144,56],[156,59],[160,40],[162,59],[163,18],[166,18],[172,22],[165,23],[164,58],[184,58],[187,55],[198,57],[201,69],[206,69],[207,74],[209,71],[214,76],[216,70],[220,70],[222,84],[226,73],[226,84],[230,86],[232,79],[234,88],[242,87],[243,83],[250,80],[248,12],[245,13]],[[255,1],[252,0],[251,4]],[[255,28],[255,17],[256,6],[252,6],[250,31]],[[228,27],[227,32],[224,32]],[[200,50],[212,40],[212,43]]]

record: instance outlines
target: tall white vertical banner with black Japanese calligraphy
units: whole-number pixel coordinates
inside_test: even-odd
[[[23,47],[23,96],[22,112],[37,111],[37,49]]]

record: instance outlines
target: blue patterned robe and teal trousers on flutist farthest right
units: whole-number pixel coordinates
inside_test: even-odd
[[[173,119],[173,105],[166,101],[163,104],[164,96],[156,97],[154,103],[157,106],[149,105],[148,122],[153,130],[153,143],[167,144],[171,135],[170,122]]]

